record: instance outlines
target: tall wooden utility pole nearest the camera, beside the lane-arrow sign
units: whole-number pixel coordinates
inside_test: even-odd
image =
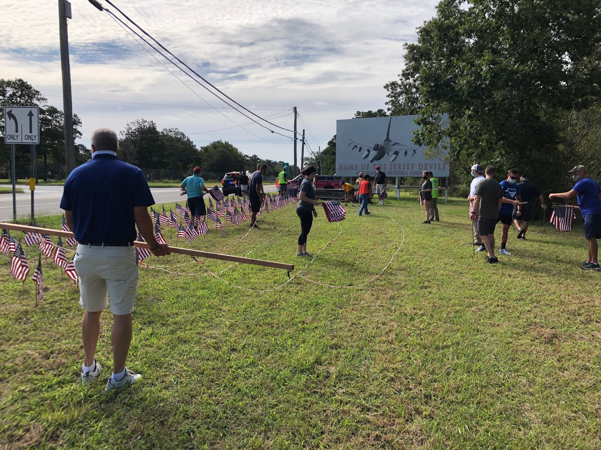
[[[58,0],[58,29],[61,41],[61,70],[63,71],[63,113],[65,122],[65,159],[67,175],[75,169],[75,139],[73,138],[73,102],[71,99],[71,67],[67,19],[71,19],[71,3]]]

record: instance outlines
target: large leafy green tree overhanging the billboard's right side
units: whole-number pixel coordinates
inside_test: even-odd
[[[413,142],[433,154],[448,148],[452,161],[516,166],[548,182],[574,165],[555,158],[566,113],[599,101],[600,31],[598,1],[443,0],[406,45],[399,80],[385,85],[388,110],[418,113]]]

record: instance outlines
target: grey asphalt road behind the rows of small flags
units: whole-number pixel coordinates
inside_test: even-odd
[[[0,187],[12,187],[2,184]],[[27,186],[17,186],[23,189],[25,193],[17,194],[17,217],[29,217],[31,214],[31,193]],[[275,192],[275,184],[266,185],[265,192]],[[185,196],[180,196],[178,188],[150,188],[154,201],[160,203],[185,202]],[[44,215],[60,214],[63,212],[59,205],[63,197],[63,186],[44,186],[35,187],[35,217]],[[0,221],[12,220],[13,218],[13,194],[0,194]]]

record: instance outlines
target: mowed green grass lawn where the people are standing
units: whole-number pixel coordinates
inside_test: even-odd
[[[351,206],[339,228],[320,211],[308,250],[329,244],[302,271],[364,283],[404,229],[391,266],[358,289],[296,277],[251,292],[141,269],[128,367],[142,379],[110,393],[111,316],[102,380],[82,386],[77,286],[43,259],[36,308],[34,283],[14,280],[0,255],[0,448],[600,448],[601,274],[579,268],[581,218],[571,233],[536,223],[525,242],[511,229],[513,254],[486,265],[472,259],[466,200],[441,199],[431,225],[416,197],[371,210],[402,229]],[[294,206],[259,225],[239,242],[248,225],[227,224],[225,238],[213,226],[193,247],[307,264],[294,256]],[[29,248],[32,271],[37,255]],[[199,261],[145,262],[192,262],[168,270],[198,275],[230,267]],[[288,280],[250,265],[219,276],[257,290]]]

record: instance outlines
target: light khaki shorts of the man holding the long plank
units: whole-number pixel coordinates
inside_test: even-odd
[[[138,256],[135,247],[95,247],[79,244],[75,253],[79,275],[79,306],[86,311],[123,315],[133,311],[138,292]]]

